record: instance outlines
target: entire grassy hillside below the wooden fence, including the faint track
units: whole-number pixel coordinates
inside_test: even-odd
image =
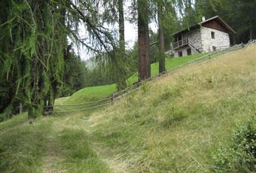
[[[255,66],[256,47],[247,47],[145,83],[105,108],[32,124],[17,116],[0,123],[0,171],[215,172],[218,148],[255,114]]]

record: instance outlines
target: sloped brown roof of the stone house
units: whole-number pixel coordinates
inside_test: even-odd
[[[203,26],[204,23],[208,23],[209,21],[212,21],[212,20],[217,20],[226,30],[227,32],[230,34],[230,35],[235,35],[236,32],[229,26],[227,25],[227,23],[225,23],[224,20],[221,19],[221,17],[219,16],[215,16],[215,17],[212,17],[212,18],[209,18],[208,20],[204,20],[200,23],[197,23],[195,24],[194,26],[190,26],[189,28],[187,29],[182,29],[178,32],[175,32],[174,34],[172,35],[177,35],[177,34],[180,34],[181,32],[189,32],[190,30],[192,29],[197,29],[197,28],[200,28],[200,26]]]

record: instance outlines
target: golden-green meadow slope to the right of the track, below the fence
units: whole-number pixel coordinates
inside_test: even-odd
[[[254,46],[145,83],[88,126],[103,154],[128,170],[208,172],[236,124],[255,114],[255,97]]]

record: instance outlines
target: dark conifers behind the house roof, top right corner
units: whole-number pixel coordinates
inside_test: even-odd
[[[247,42],[256,38],[256,2],[255,0],[196,0],[197,14],[206,18],[219,15],[235,31],[233,44]],[[238,22],[239,21],[239,22]]]

